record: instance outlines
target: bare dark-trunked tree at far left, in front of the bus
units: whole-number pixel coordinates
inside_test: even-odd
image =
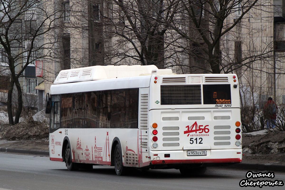
[[[23,109],[23,72],[35,60],[49,55],[49,50],[57,41],[49,32],[54,30],[55,17],[60,10],[48,2],[39,0],[11,0],[0,2],[0,44],[1,56],[6,57],[7,65],[1,70],[9,77],[7,109],[9,123],[16,124]],[[50,38],[51,37],[51,38]],[[46,51],[44,53],[44,51]],[[17,108],[13,119],[13,89],[17,89]]]

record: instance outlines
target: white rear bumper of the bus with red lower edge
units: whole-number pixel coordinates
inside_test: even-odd
[[[242,149],[207,150],[207,156],[187,156],[187,150],[150,151],[150,158],[151,164],[240,163]]]

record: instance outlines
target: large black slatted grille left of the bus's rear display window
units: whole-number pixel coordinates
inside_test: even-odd
[[[201,85],[160,85],[160,105],[201,104]]]

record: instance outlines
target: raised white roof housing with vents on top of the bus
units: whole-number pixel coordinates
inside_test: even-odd
[[[54,84],[91,81],[100,79],[113,79],[122,77],[135,77],[152,74],[175,74],[171,69],[158,69],[155,65],[107,65],[91,66],[76,69],[62,70],[58,73]]]

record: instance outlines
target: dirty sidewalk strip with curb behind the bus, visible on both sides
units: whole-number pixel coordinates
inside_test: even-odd
[[[0,152],[15,152],[25,154],[49,155],[47,141],[7,141],[0,140]],[[280,162],[271,163],[272,158],[278,157]],[[229,168],[248,169],[248,170],[268,170],[285,172],[285,153],[283,154],[245,154],[243,162],[226,166]]]

